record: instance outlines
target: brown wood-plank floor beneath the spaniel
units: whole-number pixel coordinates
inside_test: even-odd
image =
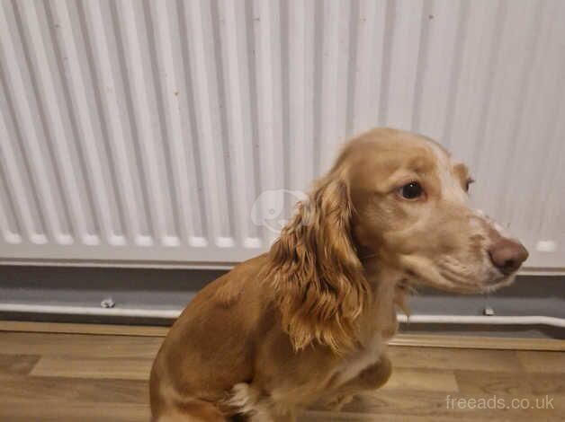
[[[148,372],[161,341],[0,331],[0,420],[148,421]],[[383,389],[300,421],[565,420],[565,352],[393,346],[390,356],[395,371]],[[511,408],[514,399],[531,409],[459,404]],[[543,404],[549,409],[534,409]]]

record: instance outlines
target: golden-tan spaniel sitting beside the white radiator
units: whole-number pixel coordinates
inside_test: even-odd
[[[351,140],[270,251],[175,321],[151,371],[152,420],[294,421],[379,388],[409,286],[490,292],[528,256],[471,209],[472,181],[424,136],[376,128]]]

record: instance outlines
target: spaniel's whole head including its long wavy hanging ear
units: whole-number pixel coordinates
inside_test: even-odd
[[[471,209],[467,167],[424,136],[374,129],[345,145],[270,251],[282,322],[295,347],[354,336],[368,282],[363,256],[412,282],[487,292],[528,253]]]

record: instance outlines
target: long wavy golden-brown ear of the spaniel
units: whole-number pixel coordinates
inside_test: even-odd
[[[354,346],[369,289],[351,239],[353,211],[345,178],[332,171],[269,251],[267,277],[296,350],[315,340],[336,353]]]

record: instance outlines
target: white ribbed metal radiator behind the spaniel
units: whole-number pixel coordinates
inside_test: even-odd
[[[0,259],[246,259],[387,125],[562,270],[563,40],[560,0],[0,0]]]

